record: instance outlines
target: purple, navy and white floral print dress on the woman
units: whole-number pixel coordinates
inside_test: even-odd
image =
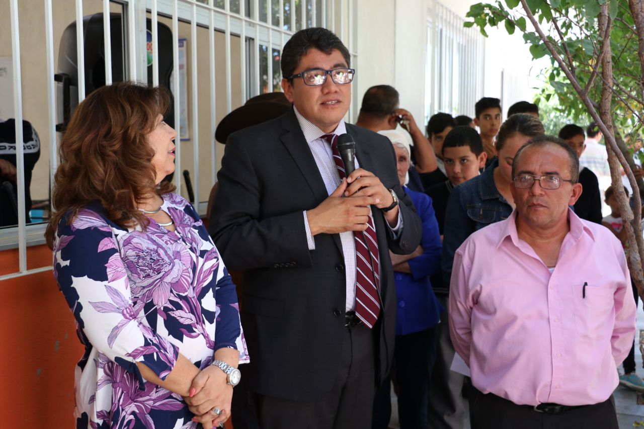
[[[181,353],[196,367],[222,347],[249,361],[235,286],[194,207],[175,194],[126,231],[99,205],[58,227],[53,272],[85,353],[76,367],[77,428],[196,428],[178,394],[142,378],[136,362],[165,379]]]

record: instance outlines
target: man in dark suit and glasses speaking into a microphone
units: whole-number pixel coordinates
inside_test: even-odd
[[[240,307],[260,427],[370,428],[390,367],[395,285],[389,250],[419,245],[387,138],[345,124],[354,70],[332,32],[284,46],[282,88],[294,108],[228,139],[211,234],[243,270]],[[337,136],[355,139],[343,178]]]

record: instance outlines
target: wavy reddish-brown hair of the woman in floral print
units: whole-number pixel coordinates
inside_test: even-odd
[[[121,227],[147,227],[149,220],[137,204],[175,190],[168,182],[156,185],[155,153],[147,142],[170,103],[165,88],[118,82],[100,87],[79,104],[59,148],[52,191],[56,212],[44,234],[50,248],[63,216],[69,213],[71,223],[90,204],[100,204]]]

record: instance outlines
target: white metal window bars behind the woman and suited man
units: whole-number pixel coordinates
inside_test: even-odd
[[[285,28],[285,9],[284,2],[289,1],[289,26]],[[173,31],[173,61],[175,70],[178,69],[178,39],[179,23],[189,23],[191,26],[191,121],[192,129],[191,140],[193,142],[193,172],[194,172],[194,196],[195,202],[200,202],[200,169],[199,169],[199,148],[205,148],[207,145],[199,144],[198,134],[198,28],[207,28],[209,30],[209,90],[211,105],[211,136],[209,136],[209,148],[211,150],[211,174],[212,183],[216,181],[216,144],[214,142],[214,128],[216,126],[216,55],[215,55],[215,32],[223,32],[225,35],[225,73],[226,73],[226,110],[232,110],[232,75],[231,75],[231,35],[240,37],[240,70],[242,70],[240,79],[241,99],[246,99],[258,95],[261,92],[260,79],[261,71],[259,70],[259,47],[260,44],[267,46],[267,78],[269,80],[269,91],[278,90],[274,86],[273,79],[273,57],[274,52],[280,53],[281,49],[288,38],[295,32],[296,28],[306,28],[308,24],[313,26],[325,26],[336,32],[339,37],[345,41],[345,31],[348,35],[348,49],[352,55],[352,61],[357,59],[355,52],[355,20],[353,13],[355,0],[347,3],[341,0],[301,0],[299,7],[296,9],[295,0],[265,0],[266,21],[260,19],[259,0],[239,1],[235,3],[235,11],[231,11],[231,0],[104,0],[102,5],[103,12],[103,32],[104,32],[104,53],[105,53],[105,81],[106,84],[113,82],[112,75],[112,46],[111,46],[111,26],[110,26],[110,4],[117,3],[124,6],[123,24],[126,28],[125,37],[125,59],[127,79],[141,82],[147,81],[147,63],[146,63],[146,44],[147,44],[147,25],[146,15],[149,11],[151,15],[151,36],[152,36],[152,55],[154,59],[158,58],[158,17],[166,16],[172,19]],[[279,3],[279,19],[273,17],[272,7],[274,3]],[[338,3],[339,17],[341,20],[340,28],[336,28],[336,3]],[[319,11],[318,11],[319,5]],[[57,132],[56,122],[56,89],[53,75],[55,73],[55,61],[53,57],[54,43],[53,40],[53,14],[52,0],[43,0],[45,12],[45,50],[46,50],[46,72],[47,72],[47,97],[48,97],[48,115],[47,123],[49,130],[48,153],[50,156],[50,184],[53,184],[53,175],[57,167]],[[221,7],[220,7],[221,6]],[[238,7],[237,7],[238,6]],[[309,10],[310,8],[310,10]],[[319,12],[319,13],[318,13]],[[348,19],[345,19],[348,14]],[[76,48],[77,48],[77,66],[78,66],[78,98],[81,102],[85,98],[85,58],[84,58],[84,23],[83,23],[83,0],[75,0],[75,20],[76,20]],[[330,15],[330,19],[328,19]],[[18,0],[10,0],[10,19],[12,30],[12,58],[14,67],[14,111],[16,121],[16,140],[23,141],[23,102],[22,102],[22,76],[20,68],[20,43],[19,43],[19,15]],[[349,23],[349,26],[346,23]],[[277,35],[277,37],[276,37]],[[250,38],[249,38],[250,37]],[[279,46],[274,45],[274,41],[279,41]],[[249,41],[249,47],[252,47],[254,54],[247,57],[245,54]],[[346,41],[345,41],[346,42]],[[252,66],[247,69],[247,58],[251,59]],[[252,61],[254,59],[254,61]],[[248,74],[247,74],[248,72]],[[252,82],[248,86],[246,81]],[[152,83],[159,84],[158,61],[153,61],[152,65]],[[175,129],[180,133],[180,100],[181,97],[187,96],[180,92],[178,73],[173,73],[173,97],[175,99]],[[249,90],[247,91],[247,88]],[[250,91],[250,92],[249,92]],[[354,104],[354,103],[352,103]],[[349,117],[352,117],[350,113]],[[177,138],[178,140],[178,138]],[[182,184],[181,175],[181,144],[176,145],[176,172],[175,185],[180,190]],[[26,247],[28,243],[43,243],[42,234],[44,232],[43,224],[26,225],[24,213],[24,161],[23,146],[16,145],[17,151],[17,205],[18,205],[18,225],[15,228],[3,229],[0,231],[0,251],[17,247],[19,253],[18,271],[12,274],[0,276],[0,280],[24,276],[35,272],[48,271],[51,267],[39,267],[37,269],[27,270]],[[200,212],[205,211],[205,204],[197,205]],[[17,232],[17,243],[15,234]]]

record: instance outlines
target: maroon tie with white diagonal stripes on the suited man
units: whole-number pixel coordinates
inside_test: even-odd
[[[345,164],[337,150],[337,135],[325,134],[331,144],[333,160],[340,178],[345,178]],[[380,314],[380,268],[378,266],[378,242],[374,220],[369,217],[367,229],[354,231],[355,240],[355,315],[368,327],[373,327]]]

